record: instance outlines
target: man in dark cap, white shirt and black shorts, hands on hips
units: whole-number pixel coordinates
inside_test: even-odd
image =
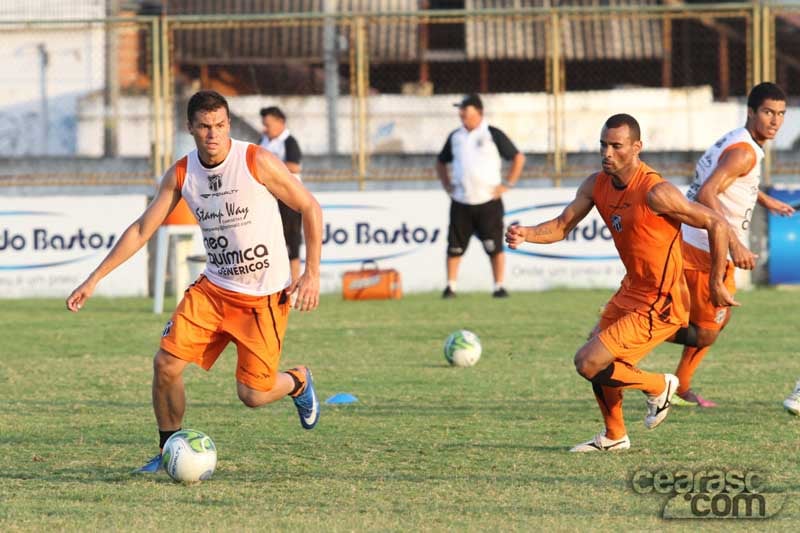
[[[455,297],[461,256],[475,234],[491,260],[492,295],[505,298],[508,292],[503,287],[502,195],[519,179],[525,156],[505,133],[486,122],[480,96],[469,94],[454,105],[459,109],[462,126],[447,137],[436,162],[436,173],[452,200],[447,235],[447,287],[442,297]],[[505,180],[501,176],[502,159],[511,161]],[[453,166],[452,177],[448,164]]]

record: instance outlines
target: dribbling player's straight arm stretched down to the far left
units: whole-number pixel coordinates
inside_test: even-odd
[[[94,293],[100,280],[127,261],[147,243],[180,199],[181,194],[176,186],[175,167],[173,166],[164,175],[155,198],[142,215],[128,226],[97,268],[67,297],[67,309],[77,312],[83,307],[86,300]]]

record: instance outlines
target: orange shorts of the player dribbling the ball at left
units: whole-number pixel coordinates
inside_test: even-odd
[[[251,389],[275,385],[289,318],[284,291],[248,296],[217,287],[205,276],[186,290],[161,336],[161,348],[209,370],[229,342],[239,357],[236,380]]]

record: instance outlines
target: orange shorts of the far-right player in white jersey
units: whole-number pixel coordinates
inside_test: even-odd
[[[719,331],[725,325],[725,319],[730,312],[729,307],[716,307],[711,303],[711,290],[708,282],[711,277],[711,254],[690,244],[683,244],[683,275],[689,292],[692,294],[692,304],[689,311],[689,321],[703,329]],[[725,267],[725,288],[736,294],[736,278],[734,276],[732,261]]]

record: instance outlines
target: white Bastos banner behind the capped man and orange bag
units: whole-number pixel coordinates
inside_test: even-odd
[[[505,225],[532,225],[557,216],[575,189],[514,189],[503,202]],[[325,192],[322,290],[341,291],[342,274],[374,260],[395,268],[403,291],[439,291],[446,285],[445,254],[450,199],[443,191]],[[596,211],[562,242],[506,249],[509,290],[554,287],[615,289],[624,275],[611,233]],[[477,238],[470,241],[458,277],[459,291],[492,290],[489,258]]]

